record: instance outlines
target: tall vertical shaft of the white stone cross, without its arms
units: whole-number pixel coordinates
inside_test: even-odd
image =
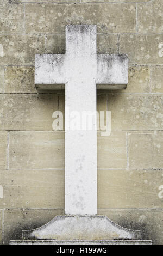
[[[70,113],[96,113],[96,26],[66,27],[65,127]],[[97,131],[65,132],[65,213],[97,214]]]

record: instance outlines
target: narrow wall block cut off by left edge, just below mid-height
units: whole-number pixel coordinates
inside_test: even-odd
[[[7,144],[8,133],[5,131],[0,131],[0,169],[5,169],[7,167]]]

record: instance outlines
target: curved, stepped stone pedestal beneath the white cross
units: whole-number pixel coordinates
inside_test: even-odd
[[[10,245],[152,245],[139,230],[122,228],[106,216],[56,216],[33,230],[23,230],[21,241]]]

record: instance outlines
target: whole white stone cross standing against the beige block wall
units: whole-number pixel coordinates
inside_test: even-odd
[[[65,84],[65,127],[73,111],[96,112],[96,87],[122,89],[128,83],[125,54],[96,53],[96,25],[67,25],[65,54],[36,54],[35,84]],[[43,86],[46,84],[46,86]],[[49,84],[49,86],[48,86]],[[52,86],[53,84],[53,86]],[[97,85],[97,86],[96,86]],[[57,86],[58,89],[58,86]],[[97,131],[65,131],[65,214],[97,214]]]

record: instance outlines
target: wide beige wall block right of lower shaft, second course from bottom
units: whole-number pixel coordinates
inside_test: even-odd
[[[98,208],[162,207],[163,170],[100,169],[97,180]]]

